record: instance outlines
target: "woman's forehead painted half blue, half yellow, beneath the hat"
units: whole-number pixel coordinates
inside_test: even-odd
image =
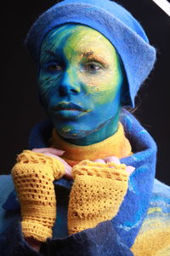
[[[42,50],[50,49],[54,52],[58,49],[65,51],[77,51],[79,53],[86,51],[100,51],[106,54],[107,51],[114,53],[115,49],[110,41],[100,32],[89,26],[78,24],[66,24],[59,26],[44,38]]]

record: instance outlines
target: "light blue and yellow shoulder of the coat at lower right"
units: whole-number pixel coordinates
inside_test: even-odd
[[[159,181],[132,251],[138,256],[170,255],[170,187]]]

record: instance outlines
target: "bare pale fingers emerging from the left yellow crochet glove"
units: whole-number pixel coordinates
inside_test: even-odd
[[[59,161],[61,161],[65,165],[65,177],[71,178],[72,167],[69,166],[65,162],[65,160],[63,160],[61,157],[59,157],[59,156],[63,155],[65,153],[65,151],[60,150],[60,149],[55,149],[55,148],[34,148],[34,149],[32,149],[32,151],[41,153],[41,154],[46,154],[48,156],[54,157],[54,158],[58,159]]]

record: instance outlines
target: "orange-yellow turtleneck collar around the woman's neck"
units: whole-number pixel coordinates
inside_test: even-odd
[[[93,146],[77,146],[66,143],[53,129],[52,137],[48,141],[51,148],[59,148],[65,151],[62,158],[67,161],[70,166],[77,165],[82,160],[96,160],[104,159],[109,156],[116,156],[118,158],[126,157],[132,154],[132,148],[125,137],[124,129],[121,123],[114,135],[105,139],[101,143],[95,143]],[[109,151],[108,151],[108,148]]]

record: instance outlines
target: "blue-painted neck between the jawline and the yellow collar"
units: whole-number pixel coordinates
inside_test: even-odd
[[[119,113],[113,119],[109,119],[104,124],[99,125],[97,131],[92,131],[88,136],[81,138],[64,138],[67,143],[88,146],[94,143],[104,141],[106,138],[111,137],[118,129]]]

